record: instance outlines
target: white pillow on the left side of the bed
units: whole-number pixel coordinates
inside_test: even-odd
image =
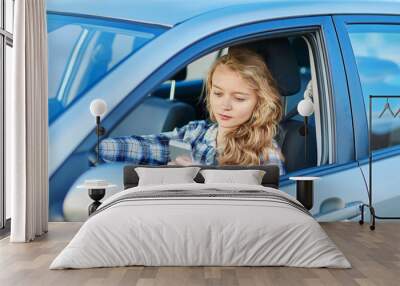
[[[135,168],[139,176],[138,186],[195,183],[193,179],[199,170],[200,167]]]

